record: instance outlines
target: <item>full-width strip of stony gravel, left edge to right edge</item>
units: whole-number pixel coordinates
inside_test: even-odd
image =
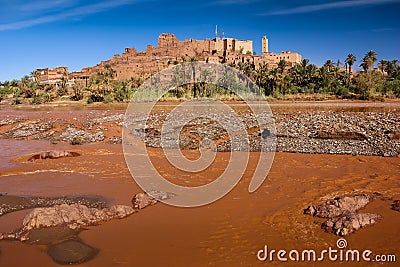
[[[177,133],[179,147],[182,149],[198,149],[204,138],[215,142],[216,150],[230,151],[270,151],[275,149],[272,142],[276,140],[276,151],[317,154],[351,154],[376,155],[394,157],[400,154],[400,113],[398,112],[352,112],[352,111],[299,111],[276,112],[273,114],[273,125],[257,125],[254,114],[238,112],[218,113],[211,110],[207,116],[188,112],[175,112],[177,119],[170,120],[168,127],[164,126],[165,135],[161,139],[163,125],[168,121],[168,113],[154,112],[149,117],[138,112],[125,117],[124,114],[103,115],[87,118],[82,122],[62,125],[57,121],[57,129],[53,129],[56,121],[51,119],[26,120],[20,118],[5,118],[1,120],[0,132],[3,138],[27,138],[57,140],[82,143],[107,142],[120,144],[121,135],[116,132],[107,134],[122,127],[132,129],[132,134],[144,136],[148,147],[176,147]],[[271,114],[264,112],[258,119],[271,120]],[[239,120],[246,130],[240,130]],[[194,118],[187,120],[187,118]],[[180,121],[186,121],[180,123]],[[221,123],[218,123],[221,122]],[[224,125],[236,131],[230,140]],[[6,131],[1,131],[3,127]],[[61,127],[61,129],[60,129]],[[116,128],[115,128],[116,127]],[[10,129],[11,128],[11,129]],[[269,133],[268,136],[262,133]],[[245,137],[248,137],[246,140]],[[261,147],[261,138],[268,146]]]

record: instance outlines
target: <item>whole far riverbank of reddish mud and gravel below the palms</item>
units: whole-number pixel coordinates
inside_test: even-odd
[[[98,106],[94,110],[64,110],[64,106],[39,106],[22,110],[0,110],[0,137],[17,140],[47,140],[51,143],[122,142],[122,127],[129,120],[147,119],[146,142],[161,146],[161,126],[176,105],[160,104],[147,116],[137,112],[125,116],[121,106]],[[400,154],[400,103],[322,102],[270,104],[276,127],[276,151],[315,154],[351,154],[393,157]],[[251,129],[251,151],[260,151],[253,142],[258,129],[254,116],[242,103],[231,103],[240,119]],[[115,109],[113,109],[115,108]],[[46,110],[47,109],[47,110]],[[265,114],[264,114],[265,113]],[[263,112],[265,116],[270,113]],[[140,129],[137,129],[140,131]],[[143,129],[142,129],[143,130]],[[272,129],[271,129],[272,130]],[[197,149],[202,136],[208,135],[218,151],[229,151],[221,127],[210,120],[193,122],[182,131],[182,149]]]

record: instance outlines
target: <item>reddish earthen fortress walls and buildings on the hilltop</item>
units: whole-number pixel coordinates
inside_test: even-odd
[[[275,67],[284,59],[288,67],[301,61],[301,55],[293,52],[279,54],[268,52],[268,40],[264,36],[263,53],[260,56],[253,54],[253,41],[234,38],[214,38],[205,40],[189,39],[178,40],[174,34],[163,33],[158,37],[158,46],[148,45],[144,51],[137,51],[134,47],[125,48],[122,55],[116,54],[113,58],[102,61],[94,67],[83,68],[79,72],[70,73],[69,78],[87,80],[110,65],[115,72],[115,79],[130,79],[131,77],[148,78],[171,65],[181,62],[198,60],[238,64],[239,62],[253,64],[258,69],[267,63]]]

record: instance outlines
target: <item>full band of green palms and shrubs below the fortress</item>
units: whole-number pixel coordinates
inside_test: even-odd
[[[182,62],[196,62],[196,57],[182,58]],[[382,100],[384,98],[400,97],[400,66],[398,60],[380,60],[377,54],[369,51],[360,60],[362,71],[356,73],[352,68],[356,64],[356,57],[349,54],[344,60],[345,66],[340,67],[327,60],[321,67],[310,64],[308,59],[289,67],[288,62],[281,60],[276,66],[262,63],[254,66],[250,61],[230,64],[247,75],[262,90],[268,99],[306,98],[315,99],[353,98]],[[374,69],[375,64],[377,68]],[[177,65],[179,62],[174,62]],[[197,97],[214,97],[221,100],[237,99],[237,96],[226,88],[232,86],[233,77],[223,77],[218,81],[224,87],[216,86],[215,77],[209,71],[200,74],[206,82],[195,82],[178,86],[181,78],[177,73],[172,77],[172,86],[176,86],[164,100],[179,100]],[[144,82],[143,77],[132,77],[128,80],[117,80],[116,72],[111,65],[106,64],[102,71],[93,75],[87,81],[75,81],[68,85],[67,73],[62,75],[55,85],[39,83],[38,74],[33,71],[30,76],[21,80],[5,81],[0,83],[0,101],[8,99],[12,104],[41,104],[56,99],[71,101],[93,102],[128,102],[137,88]]]

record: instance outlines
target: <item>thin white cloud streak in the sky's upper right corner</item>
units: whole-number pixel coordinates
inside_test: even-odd
[[[270,13],[263,13],[260,15],[290,15],[290,14],[300,14],[300,13],[310,13],[321,10],[336,9],[336,8],[346,8],[346,7],[360,7],[369,5],[381,5],[385,3],[398,3],[400,0],[349,0],[349,1],[338,1],[325,4],[317,5],[306,5],[299,6],[289,9],[283,9],[278,11],[273,11]]]

